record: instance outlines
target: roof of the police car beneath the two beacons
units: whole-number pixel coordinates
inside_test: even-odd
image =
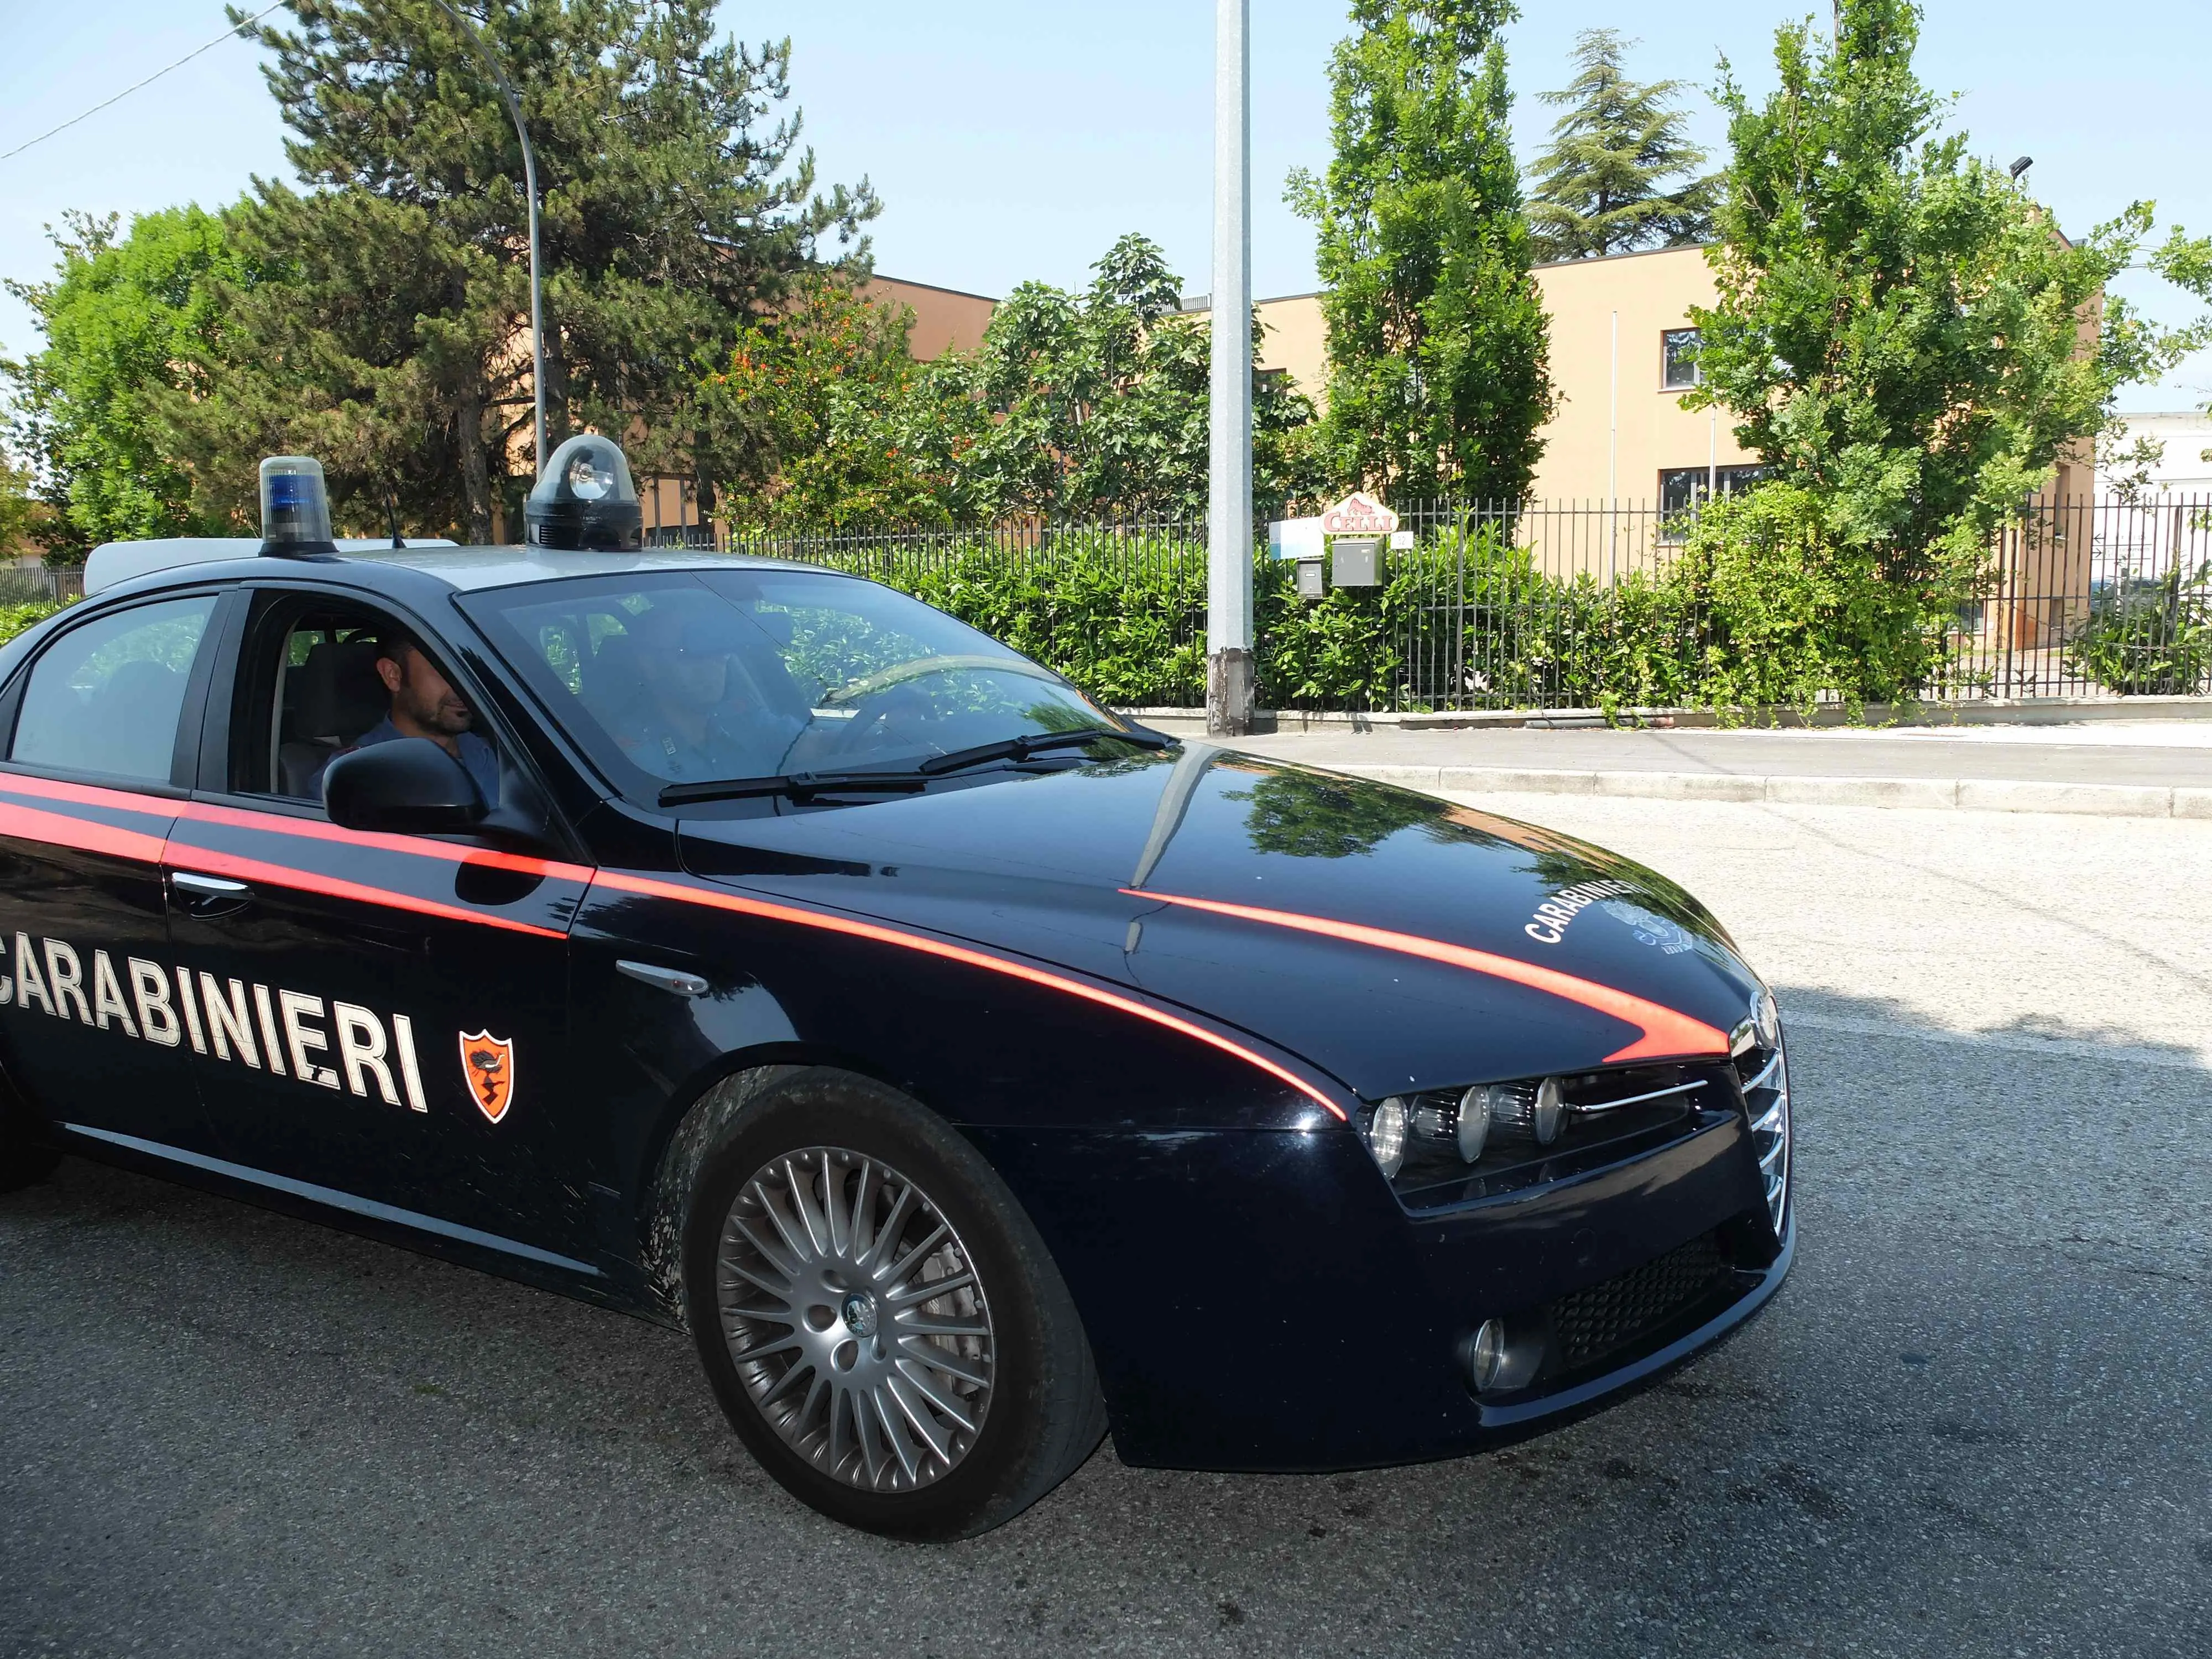
[[[714,553],[710,549],[655,546],[637,553],[571,553],[549,546],[456,546],[453,542],[416,542],[389,546],[383,542],[338,542],[338,555],[305,560],[261,553],[252,538],[168,538],[159,542],[104,542],[84,562],[86,595],[119,582],[159,573],[188,575],[204,564],[263,566],[270,575],[292,568],[343,568],[347,564],[418,571],[460,593],[478,588],[511,588],[524,582],[557,582],[575,575],[626,575],[633,571],[692,568],[818,568],[792,560],[765,560],[750,553]],[[239,575],[237,568],[223,575]]]

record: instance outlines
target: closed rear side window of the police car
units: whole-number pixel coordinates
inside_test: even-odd
[[[177,719],[215,595],[117,611],[31,664],[11,761],[168,783]]]

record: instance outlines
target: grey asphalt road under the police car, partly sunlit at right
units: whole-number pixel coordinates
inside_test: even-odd
[[[1486,805],[1688,880],[1792,1022],[1796,1272],[1668,1385],[896,1546],[679,1336],[71,1161],[0,1199],[0,1652],[2212,1652],[2212,825]]]

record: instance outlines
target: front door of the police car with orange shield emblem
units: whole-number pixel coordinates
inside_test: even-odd
[[[210,695],[206,787],[168,843],[177,958],[208,1022],[190,1064],[232,1161],[341,1208],[582,1267],[593,1146],[568,1088],[566,993],[591,872],[341,830],[316,799],[319,768],[299,763],[299,745],[343,748],[383,717],[361,677],[394,626],[482,708],[416,619],[341,595],[254,595],[237,666]],[[334,675],[349,679],[325,684]],[[518,763],[482,712],[476,730]]]

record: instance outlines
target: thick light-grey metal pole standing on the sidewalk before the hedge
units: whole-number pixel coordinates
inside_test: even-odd
[[[1214,374],[1206,513],[1206,730],[1252,730],[1252,4],[1214,13]]]

